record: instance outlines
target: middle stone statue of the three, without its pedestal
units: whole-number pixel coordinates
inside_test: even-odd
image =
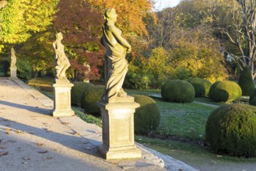
[[[56,40],[53,43],[56,81],[57,80],[65,80],[65,81],[69,82],[65,75],[65,72],[68,69],[68,67],[70,66],[70,63],[68,61],[67,56],[65,55],[64,45],[61,44],[62,39],[63,39],[62,33],[57,33]]]

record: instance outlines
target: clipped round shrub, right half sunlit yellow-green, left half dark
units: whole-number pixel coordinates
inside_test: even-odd
[[[236,82],[219,81],[212,84],[209,90],[209,98],[216,102],[233,102],[240,99],[242,90]]]

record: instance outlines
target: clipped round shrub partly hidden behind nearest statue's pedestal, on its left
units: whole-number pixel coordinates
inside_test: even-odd
[[[103,92],[103,86],[93,86],[90,89],[86,89],[86,91],[82,92],[82,109],[84,109],[86,113],[100,116],[100,107],[96,106],[96,102],[100,101]]]

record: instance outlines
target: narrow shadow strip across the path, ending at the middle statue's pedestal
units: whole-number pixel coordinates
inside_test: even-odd
[[[29,110],[31,112],[40,113],[40,114],[44,114],[44,115],[51,115],[51,110],[40,108],[38,106],[26,106],[23,104],[17,104],[17,103],[0,100],[0,105],[1,104],[5,105],[5,106],[16,107],[16,108],[23,109],[23,110]]]

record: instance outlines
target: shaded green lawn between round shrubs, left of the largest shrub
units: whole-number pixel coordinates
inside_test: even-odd
[[[158,134],[192,140],[205,139],[205,124],[215,107],[197,103],[170,103],[156,99],[161,120]]]

